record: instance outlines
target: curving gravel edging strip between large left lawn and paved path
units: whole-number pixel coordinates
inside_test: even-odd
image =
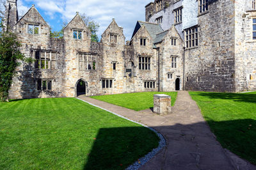
[[[81,98],[77,98],[78,100],[81,100],[83,102],[86,102],[85,100],[82,100]],[[99,107],[98,105],[94,105],[94,104],[91,104],[90,102],[86,102],[87,104],[90,104],[90,105],[93,105],[95,107],[98,107],[99,109],[102,109],[104,111],[107,111],[107,112],[111,112],[111,111],[108,111],[107,109],[104,109],[102,107]],[[115,112],[111,112],[112,114],[115,114],[116,116],[120,117],[120,118],[124,118],[125,120],[129,120],[129,121],[132,121],[134,123],[137,123],[139,125],[142,125],[143,127],[147,127],[149,128],[150,130],[152,130],[153,132],[155,132],[157,134],[157,136],[159,137],[160,141],[158,143],[158,147],[157,148],[154,148],[152,151],[150,151],[147,155],[145,155],[144,157],[141,157],[139,158],[138,160],[140,160],[140,163],[139,161],[136,161],[134,162],[131,166],[127,167],[127,169],[139,169],[141,166],[143,166],[144,164],[146,164],[148,162],[148,160],[150,160],[151,158],[153,158],[162,148],[164,148],[164,146],[166,146],[166,141],[163,137],[162,134],[160,134],[159,132],[157,132],[157,130],[155,130],[154,128],[151,128],[151,127],[148,127],[147,125],[143,125],[142,123],[139,123],[137,121],[133,121],[133,120],[130,120],[129,118],[125,118],[124,116],[121,116]]]

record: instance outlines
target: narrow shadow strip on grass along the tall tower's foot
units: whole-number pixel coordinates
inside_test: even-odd
[[[196,94],[195,94],[196,93]],[[256,103],[256,94],[250,93],[214,93],[214,92],[193,92],[191,96],[202,96],[207,98],[220,98],[226,100],[233,100],[234,102],[250,102]]]

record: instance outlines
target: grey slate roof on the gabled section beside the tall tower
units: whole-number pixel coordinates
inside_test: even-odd
[[[164,30],[159,24],[153,24],[150,22],[143,22],[143,21],[138,21],[136,24],[136,27],[134,29],[134,32],[132,34],[132,37],[136,35],[137,31],[140,29],[140,27],[145,26],[147,29],[148,33],[150,36],[153,38],[153,41],[156,39],[156,35],[163,32]]]

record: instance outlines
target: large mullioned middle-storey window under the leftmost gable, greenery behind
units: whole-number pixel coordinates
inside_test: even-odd
[[[39,52],[39,59],[36,59],[36,52]],[[42,53],[42,52],[45,53],[45,58],[44,58],[43,60],[41,59],[41,53]],[[46,57],[47,57],[47,56],[46,56],[47,53],[49,53],[49,57],[50,57],[49,59],[46,58]],[[55,59],[52,59],[52,54],[55,54],[55,55],[56,55],[56,56],[55,56]],[[40,69],[40,70],[41,70],[41,69],[42,69],[42,70],[55,70],[55,68],[56,68],[56,61],[57,61],[57,54],[58,54],[58,53],[57,53],[56,51],[54,51],[54,50],[37,50],[37,49],[33,50],[33,58],[36,59],[35,62],[37,62],[38,60],[40,61],[39,65],[38,65],[39,68],[36,68],[36,65],[35,65],[35,68],[36,68],[36,69]],[[42,61],[45,62],[45,66],[46,66],[46,61],[49,62],[50,67],[49,67],[49,65],[48,65],[48,68],[41,68],[41,66],[42,66],[42,65],[41,65],[41,62],[42,62]],[[52,61],[53,61],[53,63],[55,62],[55,68],[53,68],[53,69],[52,69]]]

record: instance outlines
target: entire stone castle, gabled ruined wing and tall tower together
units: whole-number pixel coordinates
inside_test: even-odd
[[[113,19],[91,42],[79,13],[63,38],[51,38],[35,6],[18,20],[17,0],[7,0],[4,25],[35,59],[17,68],[10,98],[256,89],[254,0],[157,0],[145,8],[131,41]]]

